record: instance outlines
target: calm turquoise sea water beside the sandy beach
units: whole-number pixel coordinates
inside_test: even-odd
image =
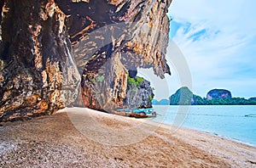
[[[153,119],[155,121],[208,132],[256,146],[256,106],[155,105],[154,110],[159,114]]]

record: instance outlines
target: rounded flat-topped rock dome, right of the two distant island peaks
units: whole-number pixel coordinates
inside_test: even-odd
[[[212,89],[207,92],[207,99],[232,98],[231,92],[225,89]]]

